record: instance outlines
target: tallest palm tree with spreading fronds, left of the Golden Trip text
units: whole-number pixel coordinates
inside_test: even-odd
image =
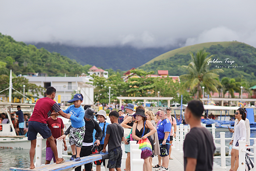
[[[197,51],[195,56],[190,52],[191,62],[188,66],[182,66],[189,71],[189,74],[180,75],[180,78],[186,81],[181,87],[181,91],[186,90],[187,87],[189,87],[190,90],[195,89],[197,99],[201,96],[201,86],[204,85],[206,92],[210,93],[210,91],[218,92],[216,86],[221,85],[220,81],[218,81],[218,73],[224,71],[221,69],[209,70],[207,61],[212,58],[213,55],[207,57],[208,55],[209,53],[205,50]]]

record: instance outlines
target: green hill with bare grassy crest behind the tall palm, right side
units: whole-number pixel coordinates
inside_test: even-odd
[[[183,75],[186,70],[181,66],[190,63],[189,52],[195,53],[200,49],[206,49],[210,55],[214,55],[212,62],[209,63],[209,68],[223,69],[224,72],[220,73],[220,78],[227,76],[246,78],[249,82],[256,81],[256,48],[237,41],[201,43],[171,50],[148,61],[139,68],[146,71],[154,70],[156,73],[157,70],[168,70],[169,75]]]

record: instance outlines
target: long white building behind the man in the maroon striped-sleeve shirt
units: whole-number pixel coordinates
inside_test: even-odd
[[[49,86],[55,87],[56,96],[55,100],[58,101],[58,95],[61,95],[61,102],[67,102],[73,97],[71,93],[77,91],[84,96],[84,101],[82,104],[94,104],[93,89],[94,86],[88,83],[92,79],[90,76],[80,76],[80,77],[40,77],[40,76],[25,76],[29,79],[30,83],[36,84],[38,86],[47,88]],[[40,95],[40,98],[44,96]]]

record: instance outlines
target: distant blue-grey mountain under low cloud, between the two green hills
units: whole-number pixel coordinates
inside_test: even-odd
[[[132,67],[140,67],[145,62],[156,56],[175,49],[146,48],[137,49],[131,46],[116,47],[76,47],[59,43],[31,43],[37,48],[47,49],[49,52],[58,52],[70,59],[75,59],[82,65],[90,64],[103,69],[130,70]]]

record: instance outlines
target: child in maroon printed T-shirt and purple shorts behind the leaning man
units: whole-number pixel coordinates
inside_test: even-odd
[[[54,141],[57,145],[56,139],[60,136],[63,135],[63,128],[64,128],[64,124],[61,118],[57,117],[58,114],[50,116],[46,123],[48,125],[48,127],[50,128],[50,130],[52,131],[52,136],[54,138]],[[63,139],[64,142],[64,151],[67,151],[67,145],[66,145],[66,141],[65,139]],[[51,160],[53,158],[53,162],[56,162],[55,160],[55,156],[53,154],[53,151],[51,149],[51,145],[50,142],[47,140],[46,141],[46,157],[45,157],[45,164],[50,164]]]

